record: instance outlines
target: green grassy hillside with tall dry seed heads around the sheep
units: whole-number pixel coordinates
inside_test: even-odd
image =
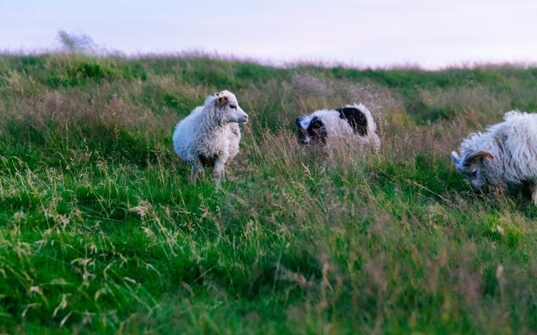
[[[190,184],[173,128],[224,89],[241,153]],[[537,208],[449,160],[536,92],[509,65],[2,55],[0,332],[536,332]],[[297,116],[352,102],[378,157],[296,144]]]

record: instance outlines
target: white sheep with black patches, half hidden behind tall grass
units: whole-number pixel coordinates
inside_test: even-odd
[[[330,145],[332,142],[356,140],[380,150],[380,137],[371,111],[364,105],[347,105],[339,109],[316,110],[296,119],[301,144]]]

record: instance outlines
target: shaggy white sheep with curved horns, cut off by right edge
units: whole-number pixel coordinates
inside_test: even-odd
[[[492,185],[529,190],[537,205],[537,114],[513,110],[504,122],[462,141],[461,157],[453,151],[456,170],[481,192]]]

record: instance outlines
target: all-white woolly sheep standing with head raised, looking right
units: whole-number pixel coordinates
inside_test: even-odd
[[[248,114],[238,106],[229,91],[215,93],[177,124],[173,148],[192,166],[191,181],[205,174],[204,165],[214,166],[213,176],[221,178],[224,166],[239,151],[241,130],[238,123],[248,122]]]

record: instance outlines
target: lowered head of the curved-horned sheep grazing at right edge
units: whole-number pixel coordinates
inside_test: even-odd
[[[466,177],[474,192],[481,192],[487,185],[483,166],[485,158],[494,161],[494,156],[487,151],[472,151],[464,159],[460,158],[455,151],[451,153],[456,170]]]

